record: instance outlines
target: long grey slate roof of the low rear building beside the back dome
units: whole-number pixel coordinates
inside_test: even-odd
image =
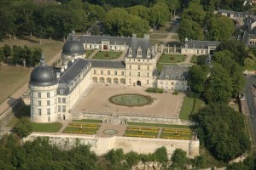
[[[105,36],[80,36],[77,39],[79,39],[83,43],[95,43],[100,44],[102,41],[108,41],[110,44],[116,44],[116,45],[129,45],[131,43],[132,37],[105,37]]]

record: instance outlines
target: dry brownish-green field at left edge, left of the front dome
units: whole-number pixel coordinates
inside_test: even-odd
[[[29,80],[30,68],[0,65],[0,104]]]

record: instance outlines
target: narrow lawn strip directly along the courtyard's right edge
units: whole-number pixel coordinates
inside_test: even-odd
[[[193,111],[194,104],[194,98],[189,98],[188,96],[185,96],[183,100],[183,106],[179,114],[179,118],[183,120],[189,120],[189,116]]]

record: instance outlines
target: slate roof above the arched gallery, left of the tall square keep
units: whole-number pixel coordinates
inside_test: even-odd
[[[125,69],[125,61],[92,59],[91,66],[93,68]]]

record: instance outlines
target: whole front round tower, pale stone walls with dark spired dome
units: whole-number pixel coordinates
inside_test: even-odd
[[[45,64],[42,54],[41,64],[32,71],[29,82],[32,122],[57,121],[57,88],[55,71]]]

